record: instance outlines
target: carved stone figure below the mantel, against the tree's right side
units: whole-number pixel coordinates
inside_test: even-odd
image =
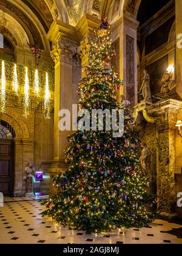
[[[143,175],[148,176],[151,179],[150,158],[151,152],[149,148],[147,148],[147,145],[144,143],[142,144],[140,163]]]

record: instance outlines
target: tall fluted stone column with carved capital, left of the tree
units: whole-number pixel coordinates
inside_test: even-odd
[[[70,110],[70,113],[72,113],[72,104],[78,104],[75,97],[76,90],[73,88],[73,80],[74,84],[76,84],[75,77],[73,79],[73,55],[77,55],[78,50],[75,34],[74,27],[64,24],[61,21],[55,21],[47,36],[53,43],[53,50],[50,52],[50,55],[55,62],[54,160],[49,169],[51,176],[67,170],[67,164],[64,160],[64,150],[68,146],[67,137],[72,131],[59,130],[59,111],[68,109]],[[79,72],[76,76],[78,76],[79,81]],[[56,191],[51,183],[50,194],[52,195],[55,193]]]

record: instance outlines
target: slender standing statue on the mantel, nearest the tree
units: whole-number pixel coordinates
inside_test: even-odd
[[[147,70],[145,69],[143,71],[144,73],[144,77],[142,79],[142,85],[141,85],[141,88],[140,88],[140,91],[143,95],[143,102],[146,102],[146,103],[149,103],[151,104],[152,103],[152,96],[151,96],[151,93],[150,93],[150,76],[147,72]]]

